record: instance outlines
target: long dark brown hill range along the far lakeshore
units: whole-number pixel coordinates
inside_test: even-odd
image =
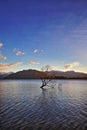
[[[4,79],[40,79],[42,76],[53,76],[56,79],[87,79],[87,74],[75,71],[48,71],[41,72],[38,70],[23,70],[13,74],[9,74]]]

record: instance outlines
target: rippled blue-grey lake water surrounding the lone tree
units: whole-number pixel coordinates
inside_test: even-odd
[[[0,130],[87,130],[87,80],[0,81]]]

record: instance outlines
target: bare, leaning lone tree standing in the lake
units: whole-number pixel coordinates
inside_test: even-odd
[[[41,68],[43,74],[41,75],[41,81],[42,81],[42,85],[41,88],[45,87],[45,86],[54,86],[55,84],[53,83],[53,79],[55,79],[55,75],[50,75],[50,70],[51,67],[49,65],[46,65],[44,67]]]

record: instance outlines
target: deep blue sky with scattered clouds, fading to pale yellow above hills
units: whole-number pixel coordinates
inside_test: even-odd
[[[0,73],[87,73],[87,0],[0,0]]]

